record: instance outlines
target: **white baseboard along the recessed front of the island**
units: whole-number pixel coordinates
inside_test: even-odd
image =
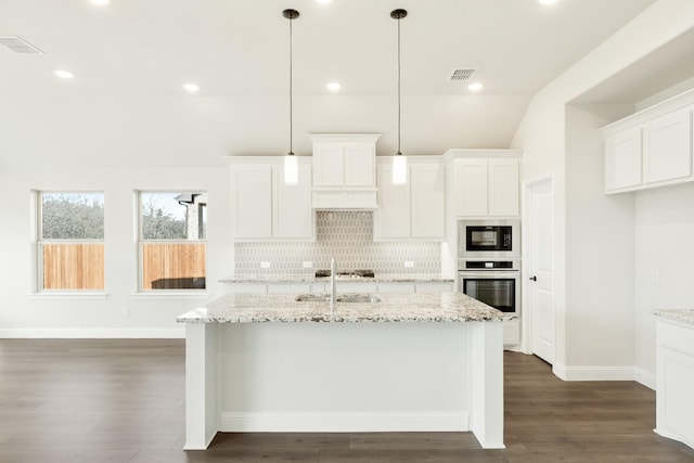
[[[453,413],[248,413],[222,412],[219,430],[224,433],[376,433],[466,432],[470,416]]]

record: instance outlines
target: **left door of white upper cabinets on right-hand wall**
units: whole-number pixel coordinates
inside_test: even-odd
[[[605,138],[605,191],[641,184],[641,128]]]

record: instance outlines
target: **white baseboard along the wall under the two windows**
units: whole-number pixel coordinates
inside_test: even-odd
[[[185,327],[176,329],[4,329],[0,330],[0,338],[184,338]]]

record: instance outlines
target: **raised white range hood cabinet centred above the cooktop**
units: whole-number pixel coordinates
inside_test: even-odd
[[[376,208],[380,133],[313,133],[314,208]]]

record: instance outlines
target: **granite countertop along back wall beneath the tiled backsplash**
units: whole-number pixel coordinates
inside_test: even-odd
[[[338,282],[357,283],[452,283],[453,278],[430,273],[376,273],[373,278],[336,276]],[[313,274],[242,274],[219,279],[220,283],[327,283],[330,276]]]

